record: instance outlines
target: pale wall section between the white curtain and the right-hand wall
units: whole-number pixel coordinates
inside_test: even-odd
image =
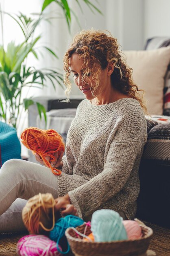
[[[124,50],[143,49],[143,0],[107,0],[106,28]]]

